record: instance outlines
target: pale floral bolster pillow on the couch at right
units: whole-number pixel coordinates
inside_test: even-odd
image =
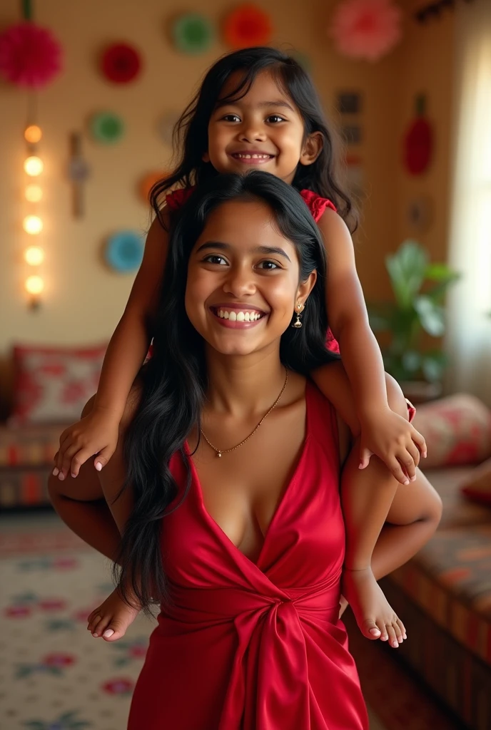
[[[457,393],[419,405],[413,425],[426,439],[422,469],[479,464],[491,456],[491,411],[474,396]]]

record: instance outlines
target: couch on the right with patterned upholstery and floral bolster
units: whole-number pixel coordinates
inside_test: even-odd
[[[427,439],[433,468],[425,472],[444,511],[433,539],[382,581],[408,630],[398,656],[465,726],[490,730],[491,413],[454,396],[419,407],[414,423]]]

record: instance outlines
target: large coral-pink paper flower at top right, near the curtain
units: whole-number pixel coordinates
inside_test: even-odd
[[[391,0],[344,0],[335,9],[330,35],[342,55],[378,61],[400,40],[400,8]]]

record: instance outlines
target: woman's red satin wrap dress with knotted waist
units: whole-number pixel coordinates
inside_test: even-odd
[[[191,488],[162,521],[162,605],[129,730],[368,730],[338,619],[344,524],[335,410],[306,389],[302,454],[256,563]],[[171,460],[186,483],[183,457]],[[176,497],[176,504],[182,494]]]

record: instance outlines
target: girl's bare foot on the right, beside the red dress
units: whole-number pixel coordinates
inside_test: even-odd
[[[392,648],[407,639],[404,624],[387,602],[371,568],[343,572],[343,596],[357,619],[359,630],[367,639],[389,641]]]

